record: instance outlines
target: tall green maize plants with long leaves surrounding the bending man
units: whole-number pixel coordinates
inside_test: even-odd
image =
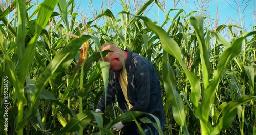
[[[245,31],[238,24],[212,24],[204,13],[165,11],[157,0],[120,0],[119,13],[87,11],[92,1],[5,2],[0,134],[124,134],[111,126],[142,112],[123,114],[112,102],[95,113],[110,75],[109,64],[97,62],[107,42],[154,65],[166,115],[160,134],[256,134],[255,25]],[[165,12],[163,22],[147,16],[152,5]]]

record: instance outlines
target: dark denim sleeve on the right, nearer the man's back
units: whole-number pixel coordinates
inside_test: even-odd
[[[137,101],[131,108],[131,111],[146,111],[150,104],[151,91],[151,69],[146,61],[136,62],[134,66],[135,85]]]

